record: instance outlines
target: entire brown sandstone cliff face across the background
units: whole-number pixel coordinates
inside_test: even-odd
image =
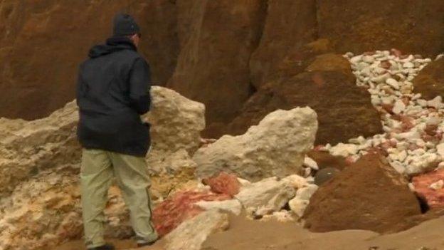
[[[331,44],[314,49],[322,53],[397,47],[429,56],[444,48],[439,0],[0,0],[0,117],[41,118],[72,100],[78,63],[121,10],[142,26],[154,83],[206,105],[209,137],[225,134],[282,66],[301,73],[320,54],[304,45],[319,38]]]

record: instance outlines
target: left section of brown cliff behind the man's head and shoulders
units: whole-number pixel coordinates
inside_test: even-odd
[[[154,83],[165,83],[179,48],[171,7],[167,0],[1,0],[0,117],[42,118],[73,100],[78,64],[90,46],[110,36],[117,11],[139,21],[146,37],[141,51],[156,65]]]

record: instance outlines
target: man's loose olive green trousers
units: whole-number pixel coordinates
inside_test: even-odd
[[[90,249],[105,244],[103,210],[113,177],[117,179],[129,208],[137,241],[155,241],[157,233],[152,225],[152,204],[148,192],[150,182],[144,157],[83,149],[80,189],[86,246]]]

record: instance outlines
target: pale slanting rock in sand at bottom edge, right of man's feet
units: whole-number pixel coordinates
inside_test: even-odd
[[[165,236],[166,250],[201,250],[206,238],[228,229],[228,215],[209,210],[189,219]]]

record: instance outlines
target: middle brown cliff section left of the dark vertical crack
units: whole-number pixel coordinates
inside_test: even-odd
[[[179,5],[181,18],[189,23],[179,26],[181,52],[168,86],[205,103],[210,126],[233,119],[250,94],[248,61],[260,38],[264,3],[204,0]]]

